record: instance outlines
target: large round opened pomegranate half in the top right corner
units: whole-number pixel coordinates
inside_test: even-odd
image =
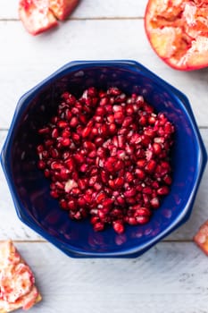
[[[208,66],[207,0],[149,0],[145,28],[155,53],[172,68]]]

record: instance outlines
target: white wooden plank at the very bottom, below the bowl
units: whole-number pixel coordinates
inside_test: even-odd
[[[194,243],[160,243],[140,258],[74,259],[17,242],[43,295],[31,312],[206,313],[207,257]]]

